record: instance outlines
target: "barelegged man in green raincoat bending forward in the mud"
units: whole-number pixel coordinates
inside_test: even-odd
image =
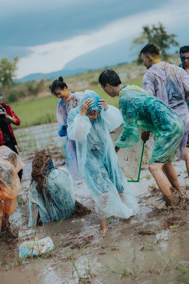
[[[130,147],[139,141],[138,127],[144,131],[151,131],[155,135],[156,141],[149,171],[168,205],[174,206],[175,200],[170,183],[183,194],[176,170],[171,163],[175,160],[177,148],[182,139],[184,131],[182,119],[169,106],[142,88],[135,85],[123,86],[119,75],[111,69],[101,73],[99,84],[112,98],[120,97],[119,107],[124,128],[116,141],[116,151],[119,148]],[[145,138],[145,134],[142,134],[141,139],[145,140]]]

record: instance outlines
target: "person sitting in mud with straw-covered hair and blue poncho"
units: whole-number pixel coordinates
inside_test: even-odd
[[[75,210],[74,183],[65,168],[55,168],[51,155],[44,150],[35,153],[29,187],[29,227],[39,221],[58,221]],[[81,204],[83,207],[83,205]]]

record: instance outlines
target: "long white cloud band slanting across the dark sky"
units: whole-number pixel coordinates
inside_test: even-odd
[[[66,63],[86,52],[111,44],[121,40],[121,38],[139,36],[142,26],[146,24],[161,22],[166,29],[174,33],[174,27],[180,26],[182,28],[184,23],[188,21],[189,7],[188,5],[185,6],[183,13],[183,6],[180,3],[172,0],[170,4],[172,4],[171,9],[169,5],[164,9],[148,10],[145,13],[125,17],[88,35],[80,35],[69,40],[33,47],[28,46],[27,50],[31,53],[29,56],[20,59],[17,78],[32,73],[50,73],[61,70]]]

